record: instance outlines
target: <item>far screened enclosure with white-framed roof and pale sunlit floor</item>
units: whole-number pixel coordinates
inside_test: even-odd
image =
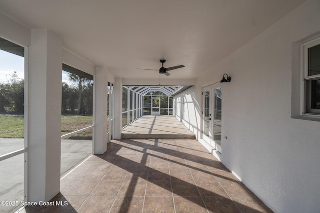
[[[173,95],[189,86],[123,86],[121,138],[195,138],[175,117]]]

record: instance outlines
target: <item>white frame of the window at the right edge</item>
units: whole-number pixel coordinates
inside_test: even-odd
[[[310,95],[310,94],[306,94],[306,81],[320,79],[320,74],[308,76],[308,48],[311,48],[318,44],[320,44],[320,37],[317,37],[315,39],[312,39],[300,45],[300,54],[301,54],[300,55],[300,58],[301,58],[300,115],[304,115],[304,116],[320,117],[320,109],[308,108],[307,95]]]

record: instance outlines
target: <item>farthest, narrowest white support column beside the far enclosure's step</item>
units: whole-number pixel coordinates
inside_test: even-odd
[[[121,139],[122,129],[122,80],[116,77],[114,82],[114,139]]]

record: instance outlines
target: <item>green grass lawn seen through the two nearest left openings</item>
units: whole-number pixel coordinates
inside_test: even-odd
[[[61,135],[92,125],[92,116],[62,115]],[[23,138],[23,116],[0,114],[0,138]],[[92,140],[92,130],[69,137],[69,139]]]

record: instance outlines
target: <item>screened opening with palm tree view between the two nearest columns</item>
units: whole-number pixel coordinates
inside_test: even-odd
[[[92,125],[93,76],[62,64],[61,135]],[[92,154],[92,129],[61,140],[63,176],[69,169]],[[72,159],[72,160],[70,160]]]

